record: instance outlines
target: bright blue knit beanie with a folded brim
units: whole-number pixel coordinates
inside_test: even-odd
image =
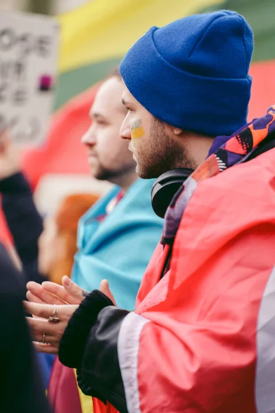
[[[148,30],[120,63],[120,74],[135,99],[165,123],[231,135],[246,123],[252,52],[253,33],[240,14],[195,14]]]

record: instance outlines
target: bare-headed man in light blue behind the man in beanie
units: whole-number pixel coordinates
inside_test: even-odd
[[[118,305],[133,310],[142,275],[162,233],[162,220],[151,207],[153,180],[137,179],[128,142],[120,138],[126,115],[121,94],[122,80],[116,70],[98,90],[91,127],[83,136],[91,175],[115,186],[80,220],[72,279],[88,291],[107,279]],[[58,359],[48,394],[56,413],[91,412],[91,398],[78,389],[74,370]]]

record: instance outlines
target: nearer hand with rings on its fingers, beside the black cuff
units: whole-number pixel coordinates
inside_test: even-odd
[[[35,316],[27,317],[27,321],[36,350],[58,354],[61,337],[78,304],[57,306],[24,301],[24,307],[27,313]]]

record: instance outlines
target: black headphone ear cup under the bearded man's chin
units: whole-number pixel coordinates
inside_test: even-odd
[[[173,169],[162,173],[154,182],[151,202],[153,210],[159,218],[164,218],[173,196],[192,172],[194,172],[193,169],[188,168]]]

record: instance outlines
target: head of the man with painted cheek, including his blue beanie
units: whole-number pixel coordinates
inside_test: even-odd
[[[120,65],[128,109],[121,134],[133,138],[138,175],[195,169],[211,138],[245,125],[252,51],[250,26],[230,11],[153,27],[135,43]]]

